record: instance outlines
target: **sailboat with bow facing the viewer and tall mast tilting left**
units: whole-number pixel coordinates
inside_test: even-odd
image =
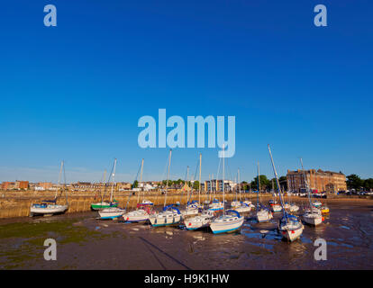
[[[276,171],[275,163],[273,162],[273,157],[272,157],[272,153],[269,148],[269,144],[268,144],[268,151],[269,151],[270,160],[272,162],[273,173],[275,174],[275,177],[276,177],[279,200],[281,202],[282,208],[284,208],[284,203],[283,203],[282,196],[281,196],[281,188],[279,185],[277,171]],[[300,238],[300,236],[303,233],[303,229],[305,229],[305,227],[303,226],[302,222],[296,216],[288,214],[287,211],[285,211],[285,209],[282,209],[282,211],[283,211],[283,216],[278,221],[278,230],[280,231],[283,238],[292,242],[296,240],[297,238]]]

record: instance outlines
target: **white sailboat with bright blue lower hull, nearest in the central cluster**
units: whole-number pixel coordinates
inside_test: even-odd
[[[223,145],[223,203],[225,203],[225,185],[224,185],[224,145]],[[240,215],[238,211],[228,210],[225,211],[223,206],[223,215],[215,218],[210,223],[210,229],[214,234],[220,234],[225,232],[232,232],[241,229],[244,218]]]

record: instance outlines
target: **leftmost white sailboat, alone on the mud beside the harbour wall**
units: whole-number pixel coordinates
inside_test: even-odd
[[[64,189],[63,190],[65,190],[66,176],[65,176],[65,166],[64,166],[63,161],[61,162],[61,166],[59,168],[59,183],[61,180],[62,171],[64,175],[64,185],[63,185]],[[58,183],[58,186],[59,186],[59,183]],[[30,208],[30,217],[36,216],[36,215],[49,216],[53,214],[64,213],[65,211],[67,211],[68,210],[68,193],[65,191],[65,195],[66,195],[65,205],[57,204],[58,193],[59,193],[59,188],[56,190],[53,200],[43,200],[41,201],[41,203],[32,204]]]

